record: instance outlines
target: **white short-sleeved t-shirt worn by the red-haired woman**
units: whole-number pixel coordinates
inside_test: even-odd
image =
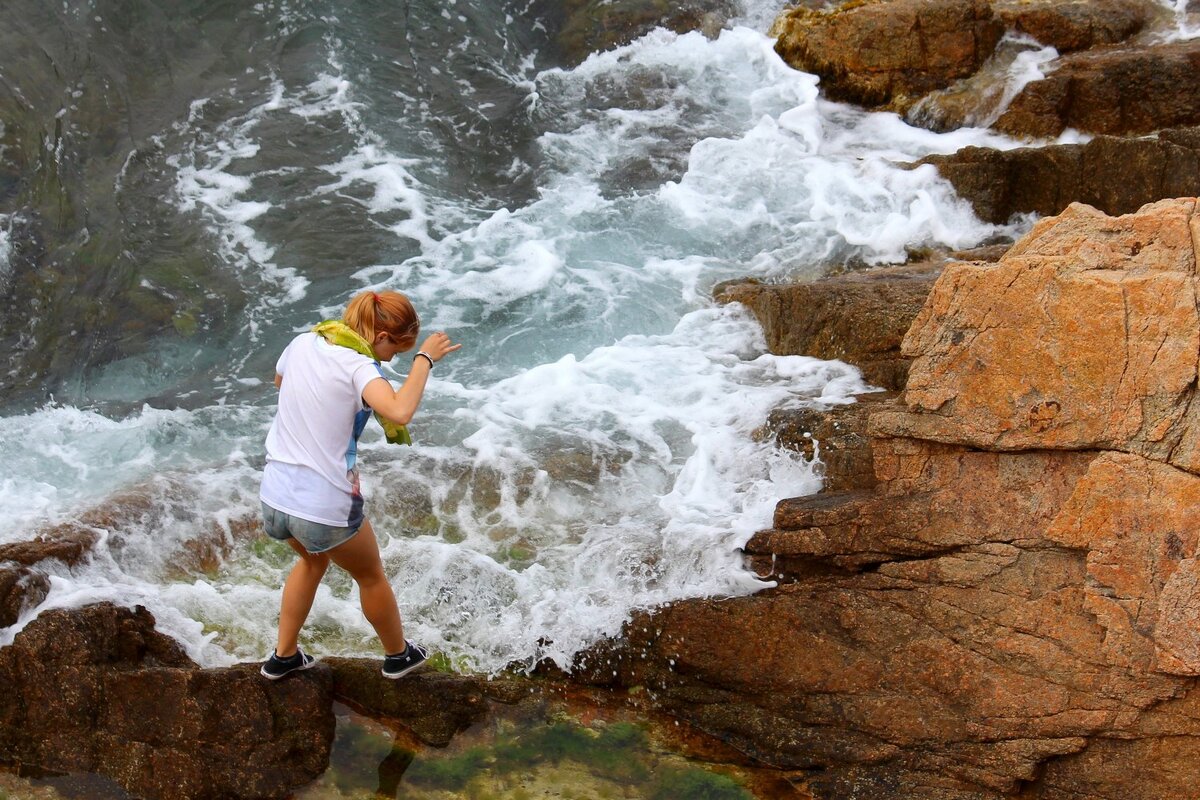
[[[362,522],[355,469],[358,439],[371,416],[362,402],[379,365],[350,348],[301,333],[283,350],[280,408],[266,434],[263,503],[337,528]]]

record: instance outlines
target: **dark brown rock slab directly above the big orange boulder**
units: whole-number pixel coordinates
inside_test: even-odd
[[[1051,216],[1076,201],[1110,215],[1132,213],[1154,200],[1200,194],[1200,128],[1045,148],[964,148],[918,163],[937,167],[985,222]]]

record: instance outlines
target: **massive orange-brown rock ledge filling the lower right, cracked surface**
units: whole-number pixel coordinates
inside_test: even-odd
[[[745,548],[779,585],[644,614],[577,679],[647,687],[812,798],[1194,796],[1198,253],[1176,199],[947,264],[898,306],[902,391],[810,420],[840,428],[830,489]]]

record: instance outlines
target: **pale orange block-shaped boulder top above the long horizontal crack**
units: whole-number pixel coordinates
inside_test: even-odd
[[[947,266],[904,341],[907,408],[874,431],[1200,469],[1195,205],[1116,218],[1072,205],[994,265]]]

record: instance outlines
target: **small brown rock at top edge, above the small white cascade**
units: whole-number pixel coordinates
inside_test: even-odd
[[[1004,26],[1060,53],[1123,42],[1163,11],[1148,0],[1000,0]]]

